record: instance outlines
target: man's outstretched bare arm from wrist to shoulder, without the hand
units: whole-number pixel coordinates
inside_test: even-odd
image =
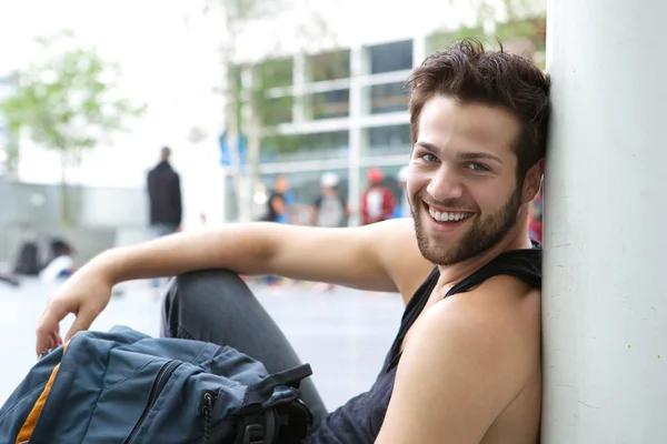
[[[399,280],[407,274],[401,263],[406,258],[410,261],[409,252],[418,254],[412,225],[401,222],[345,229],[267,222],[228,224],[109,250],[93,259],[91,266],[101,266],[115,283],[228,269],[239,274],[273,274],[397,291],[404,284],[397,284],[396,274]]]

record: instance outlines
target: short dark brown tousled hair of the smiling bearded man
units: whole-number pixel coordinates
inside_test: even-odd
[[[406,84],[412,143],[417,141],[419,114],[434,95],[460,102],[504,107],[521,123],[515,143],[517,182],[545,157],[549,123],[549,79],[529,60],[486,50],[476,39],[464,39],[428,57],[412,71]]]

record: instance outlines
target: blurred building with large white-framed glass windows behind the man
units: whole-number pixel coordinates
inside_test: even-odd
[[[532,24],[541,22],[544,18],[531,20]],[[537,60],[545,39],[539,27],[537,32],[535,26],[531,29]],[[276,105],[270,123],[281,134],[262,141],[259,172],[263,185],[270,189],[277,175],[286,174],[297,202],[311,204],[319,192],[320,175],[332,171],[341,178],[341,192],[355,211],[366,188],[366,170],[379,168],[398,198],[396,176],[408,163],[411,145],[406,80],[412,68],[437,48],[466,34],[481,33],[465,31],[260,63],[255,71],[259,72],[259,81],[262,77],[273,79],[266,93]],[[498,36],[501,33],[500,27]],[[277,84],[275,79],[280,79]],[[282,145],[277,140],[281,137]],[[229,175],[225,200],[226,219],[236,219],[238,209]],[[258,205],[255,216],[262,211],[263,204]]]

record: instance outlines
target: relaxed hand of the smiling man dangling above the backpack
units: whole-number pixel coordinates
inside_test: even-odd
[[[62,345],[60,321],[69,313],[77,319],[64,341],[74,333],[88,330],[92,321],[104,310],[111,299],[113,283],[106,275],[104,269],[92,263],[83,266],[69,278],[49,297],[47,307],[37,326],[37,355]]]

